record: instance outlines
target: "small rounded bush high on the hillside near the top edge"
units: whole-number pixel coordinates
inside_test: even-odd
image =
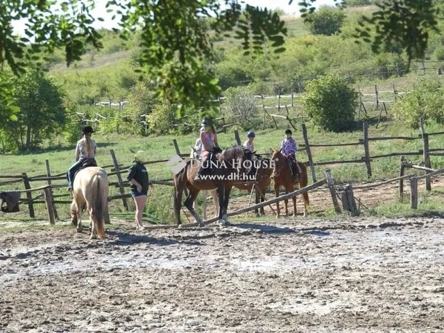
[[[307,22],[309,31],[314,35],[334,35],[340,30],[345,14],[341,8],[321,6],[318,11],[309,16]]]

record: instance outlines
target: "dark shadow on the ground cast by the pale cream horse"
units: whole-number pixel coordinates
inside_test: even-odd
[[[130,234],[129,232],[123,232],[120,230],[107,230],[106,233],[113,237],[119,246],[133,246],[136,244],[151,244],[157,246],[171,246],[177,244],[185,244],[189,246],[202,245],[199,241],[152,237],[147,234]]]

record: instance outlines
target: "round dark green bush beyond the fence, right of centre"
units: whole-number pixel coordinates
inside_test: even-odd
[[[302,96],[302,105],[320,130],[348,130],[355,118],[357,92],[337,74],[327,74],[311,81]]]

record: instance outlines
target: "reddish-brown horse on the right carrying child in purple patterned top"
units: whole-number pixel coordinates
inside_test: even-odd
[[[291,175],[291,169],[289,166],[289,160],[287,157],[285,157],[280,151],[273,151],[271,149],[271,153],[273,154],[273,157],[271,157],[271,160],[273,160],[275,164],[275,168],[273,171],[273,179],[275,180],[275,195],[276,198],[279,196],[279,189],[281,186],[285,188],[285,193],[288,194],[292,191],[294,191],[294,185],[296,184],[296,180],[294,180],[293,176]],[[302,189],[302,187],[306,187],[308,184],[308,176],[307,176],[307,167],[305,167],[305,164],[302,162],[296,162],[298,164],[298,168],[300,170],[299,172],[299,188]],[[305,212],[307,210],[307,207],[309,206],[309,198],[307,192],[302,194],[304,198],[304,216]],[[288,203],[289,200],[285,201],[285,215],[289,214],[288,210]],[[279,203],[276,203],[276,209],[277,214],[276,217],[280,216],[280,207]],[[296,196],[293,196],[293,216],[296,216]]]

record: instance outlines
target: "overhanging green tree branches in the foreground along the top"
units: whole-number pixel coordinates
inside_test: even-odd
[[[310,19],[315,1],[299,1],[304,19]],[[58,48],[65,49],[69,65],[85,53],[85,44],[101,49],[101,35],[93,28],[94,21],[101,18],[90,14],[95,2],[66,0],[58,8],[55,0],[2,1],[0,82],[4,81],[5,62],[18,75],[26,67],[23,60],[38,61],[40,52],[51,54]],[[291,3],[293,0],[289,0]],[[357,36],[371,43],[375,52],[395,43],[409,60],[423,58],[429,31],[437,30],[438,12],[434,3],[434,0],[382,0],[368,19],[370,26],[361,28]],[[110,0],[107,10],[119,15],[123,40],[140,31],[142,71],[157,79],[160,96],[167,96],[171,103],[185,108],[185,105],[205,106],[202,104],[209,103],[220,90],[210,67],[203,66],[205,60],[214,58],[209,31],[202,24],[205,17],[214,17],[211,29],[216,34],[234,34],[242,40],[245,53],[257,55],[270,46],[276,53],[284,51],[287,28],[279,15],[243,4],[232,0]],[[13,34],[12,24],[23,19],[28,21],[26,37],[19,38]],[[372,29],[375,33],[370,38]],[[33,44],[29,46],[29,42]],[[1,101],[10,99],[12,94],[12,87],[1,85]]]

